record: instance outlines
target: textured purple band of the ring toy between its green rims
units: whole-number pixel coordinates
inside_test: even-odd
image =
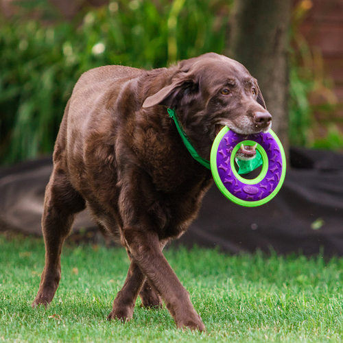
[[[235,177],[231,169],[231,153],[234,147],[241,141],[255,141],[259,143],[268,156],[269,167],[267,174],[261,182],[255,185],[247,185],[241,182]],[[279,145],[272,137],[272,134],[268,132],[244,136],[233,132],[233,130],[228,130],[222,141],[220,141],[217,150],[217,170],[220,179],[226,189],[241,200],[257,201],[269,196],[280,182],[282,163]]]

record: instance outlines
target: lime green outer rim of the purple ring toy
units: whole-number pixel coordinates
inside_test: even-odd
[[[218,147],[220,145],[220,142],[222,141],[224,135],[226,134],[226,132],[228,132],[228,130],[230,130],[230,129],[227,126],[224,126],[224,128],[222,128],[222,130],[220,130],[220,132],[217,134],[217,137],[215,137],[215,140],[213,141],[213,144],[211,147],[210,163],[211,163],[211,172],[212,172],[213,179],[215,181],[215,185],[217,185],[218,189],[220,189],[220,191],[224,194],[224,196],[226,196],[226,198],[228,198],[228,200],[231,200],[232,202],[235,202],[236,204],[239,204],[241,206],[246,206],[246,207],[261,206],[261,205],[269,202],[270,200],[272,200],[272,198],[274,198],[274,196],[276,196],[276,194],[279,193],[279,191],[283,185],[283,181],[285,180],[285,175],[286,175],[285,150],[283,150],[283,146],[281,144],[279,137],[276,136],[274,131],[269,130],[270,134],[272,135],[272,137],[275,139],[277,145],[279,146],[279,149],[281,152],[283,167],[282,167],[282,172],[281,172],[281,177],[280,177],[279,183],[276,186],[276,188],[274,189],[274,191],[272,191],[272,193],[270,193],[270,195],[265,197],[264,199],[257,200],[257,201],[241,200],[241,199],[237,198],[236,196],[234,196],[232,193],[230,193],[226,189],[222,180],[220,179],[220,176],[219,176],[219,173],[217,170],[217,150],[218,150]],[[261,148],[264,151],[263,147],[261,147]],[[235,155],[231,155],[231,156],[235,156]],[[263,160],[263,167],[264,167],[264,160]],[[262,171],[261,171],[261,173],[262,173]],[[261,173],[260,173],[260,175],[261,175]],[[259,178],[259,176],[257,177],[257,179],[258,178]],[[253,180],[255,181],[256,179],[253,179]],[[246,180],[244,182],[246,182]]]

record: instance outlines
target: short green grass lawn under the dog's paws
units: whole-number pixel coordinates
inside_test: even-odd
[[[106,320],[126,277],[122,248],[65,246],[48,309],[31,308],[43,240],[0,235],[0,248],[0,342],[343,342],[342,258],[167,249],[206,326],[198,333],[140,300],[130,322]]]

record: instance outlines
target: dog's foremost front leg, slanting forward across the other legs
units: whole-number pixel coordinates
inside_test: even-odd
[[[158,235],[151,230],[130,226],[123,228],[123,237],[132,259],[161,294],[176,325],[203,331],[204,324],[193,308],[188,292],[163,256]]]

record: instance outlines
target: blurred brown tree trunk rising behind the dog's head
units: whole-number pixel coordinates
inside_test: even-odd
[[[236,0],[228,36],[228,56],[257,78],[273,116],[273,130],[288,154],[287,43],[290,0]]]

